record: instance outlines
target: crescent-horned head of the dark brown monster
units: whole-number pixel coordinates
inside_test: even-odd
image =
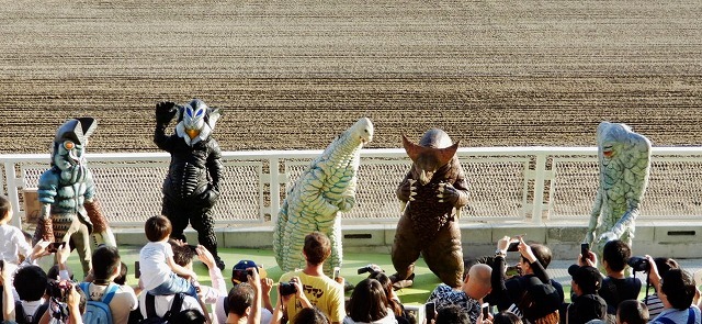
[[[419,145],[411,143],[403,135],[405,152],[412,160],[412,176],[424,186],[431,181],[434,172],[445,166],[455,156],[458,142],[452,144],[451,137],[444,131],[432,129],[427,131],[419,141]]]

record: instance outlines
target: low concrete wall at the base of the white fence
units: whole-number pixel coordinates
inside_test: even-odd
[[[545,243],[554,253],[554,259],[575,259],[585,237],[586,224],[525,223],[464,224],[462,227],[463,254],[474,258],[495,253],[500,237],[525,234],[526,241]],[[143,245],[143,231],[116,230],[121,245]],[[197,242],[196,233],[189,228],[189,242]],[[346,252],[372,252],[389,254],[395,237],[395,224],[346,225],[343,227]],[[219,246],[237,248],[271,248],[273,228],[256,226],[222,228],[217,232]],[[702,221],[638,222],[633,244],[634,255],[668,256],[673,258],[702,258]]]

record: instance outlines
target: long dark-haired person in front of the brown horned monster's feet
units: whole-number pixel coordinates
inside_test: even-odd
[[[347,314],[343,319],[344,324],[397,324],[383,286],[371,278],[363,279],[355,286],[347,306]]]

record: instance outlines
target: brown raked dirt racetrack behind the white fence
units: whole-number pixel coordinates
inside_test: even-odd
[[[592,146],[600,121],[702,144],[702,2],[3,1],[0,153],[152,152],[154,107],[223,108],[225,150],[367,147],[444,129],[463,146]]]

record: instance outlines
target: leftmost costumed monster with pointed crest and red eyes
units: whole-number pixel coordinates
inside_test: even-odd
[[[114,234],[95,199],[95,183],[84,153],[98,127],[93,118],[65,122],[54,137],[52,168],[38,181],[42,204],[34,242],[70,242],[78,249],[84,273],[91,265],[89,233],[95,244],[116,246]]]

